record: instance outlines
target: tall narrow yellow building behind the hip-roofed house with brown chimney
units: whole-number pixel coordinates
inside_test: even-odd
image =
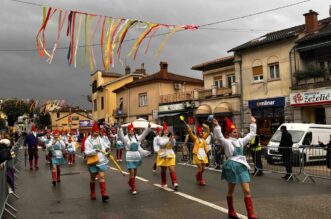
[[[113,90],[123,87],[134,80],[145,76],[145,69],[137,69],[131,73],[130,68],[126,67],[125,74],[107,73],[96,71],[92,76],[92,116],[96,121],[114,123],[113,113],[116,111],[116,94]]]

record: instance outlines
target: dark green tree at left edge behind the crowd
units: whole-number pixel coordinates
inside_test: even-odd
[[[4,101],[1,110],[7,115],[8,126],[13,126],[19,116],[31,113],[29,104],[17,99]]]

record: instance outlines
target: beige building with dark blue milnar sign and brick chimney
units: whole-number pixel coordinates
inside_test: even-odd
[[[310,25],[317,22],[314,13],[304,15],[303,25],[268,33],[230,50],[234,52],[236,76],[241,82],[243,126],[248,127],[250,115],[254,115],[262,144],[283,122],[304,122],[298,118],[297,109],[293,113],[290,94],[297,83],[294,72],[304,65],[297,42],[313,33]]]

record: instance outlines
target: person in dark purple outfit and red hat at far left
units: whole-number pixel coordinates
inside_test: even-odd
[[[29,154],[29,165],[30,170],[33,170],[33,158],[34,158],[34,168],[36,170],[39,169],[38,166],[38,138],[45,135],[45,133],[37,134],[37,128],[33,124],[31,127],[31,132],[25,136],[24,146],[28,146],[28,154]]]

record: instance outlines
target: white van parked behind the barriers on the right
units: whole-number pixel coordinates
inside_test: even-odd
[[[318,141],[327,144],[330,141],[331,135],[331,125],[321,125],[321,124],[305,124],[305,123],[284,123],[287,131],[292,135],[293,141],[293,164],[299,165],[300,154],[304,162],[314,162],[314,161],[325,161],[326,150],[322,149],[318,145]],[[280,127],[273,134],[272,138],[268,143],[267,150],[267,161],[268,163],[274,163],[276,161],[282,160],[282,155],[278,151],[279,142],[282,136]],[[309,149],[303,149],[304,146],[314,146],[316,148],[310,147]]]

